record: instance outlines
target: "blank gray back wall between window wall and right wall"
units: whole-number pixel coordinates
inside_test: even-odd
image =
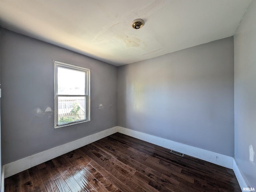
[[[234,157],[233,37],[118,67],[118,125]]]

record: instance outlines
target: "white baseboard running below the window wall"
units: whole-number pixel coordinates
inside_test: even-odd
[[[77,139],[75,141],[71,141],[69,143],[65,143],[58,147],[54,147],[52,149],[48,149],[46,151],[42,151],[40,153],[36,153],[34,155],[25,157],[23,159],[19,159],[17,161],[13,161],[11,163],[7,163],[3,165],[4,170],[4,178],[12,176],[16,173],[22,172],[28,168],[39,165],[40,163],[44,163],[50,159],[78,149],[84,145],[88,145],[94,141],[107,137],[108,135],[112,135],[117,132],[117,127],[112,127],[110,129],[106,129],[104,131],[100,131],[98,133],[88,135],[81,139]]]

